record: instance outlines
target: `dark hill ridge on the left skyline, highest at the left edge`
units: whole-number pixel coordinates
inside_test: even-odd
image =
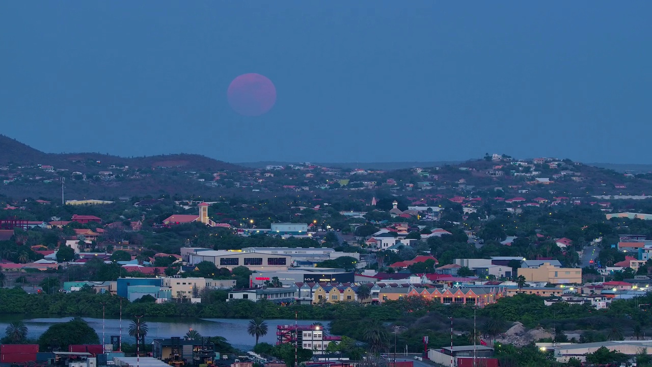
[[[9,138],[0,135],[0,165],[50,165],[55,168],[75,169],[82,167],[88,161],[101,161],[102,166],[116,165],[131,168],[170,167],[183,170],[242,170],[244,167],[198,154],[153,155],[151,157],[117,157],[100,153],[44,153]]]

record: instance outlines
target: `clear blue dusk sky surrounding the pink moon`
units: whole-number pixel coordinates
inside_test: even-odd
[[[652,1],[2,1],[0,134],[230,162],[652,163]],[[276,86],[234,112],[231,80]]]

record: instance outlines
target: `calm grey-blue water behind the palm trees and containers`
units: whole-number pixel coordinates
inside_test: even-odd
[[[23,315],[0,315],[0,334],[4,334],[4,330],[10,323],[14,321],[23,321],[27,326],[28,338],[38,338],[40,334],[48,330],[50,325],[55,323],[65,323],[70,321],[72,317],[30,317]],[[91,317],[83,317],[89,325],[95,329],[100,342],[102,341],[102,326],[104,325],[104,340],[110,343],[111,335],[120,335],[120,320],[119,319],[106,319],[102,323],[102,319],[93,319]],[[190,328],[197,330],[203,336],[223,336],[228,340],[233,347],[245,351],[251,350],[254,347],[256,339],[246,332],[246,325],[249,323],[248,319],[192,319],[192,318],[166,318],[166,317],[145,317],[149,331],[145,336],[145,342],[151,343],[155,338],[170,338],[171,336],[183,337]],[[315,320],[299,320],[299,325],[310,325],[314,322],[321,322],[328,327],[328,321],[315,321]],[[122,336],[123,341],[134,343],[134,337],[129,336],[129,319],[122,321]],[[260,338],[260,342],[276,343],[276,327],[278,325],[294,325],[294,320],[267,320],[268,332],[267,335]]]

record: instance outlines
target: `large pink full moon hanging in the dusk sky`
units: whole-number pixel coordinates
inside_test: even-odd
[[[271,80],[250,72],[233,79],[226,91],[229,104],[243,116],[260,116],[276,103],[276,88]]]

